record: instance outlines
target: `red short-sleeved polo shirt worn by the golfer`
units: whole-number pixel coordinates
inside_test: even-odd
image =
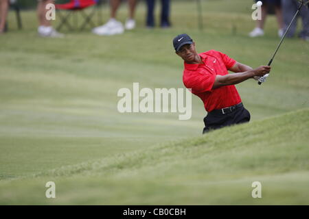
[[[183,70],[183,83],[191,88],[192,93],[199,96],[207,112],[236,105],[242,100],[233,85],[212,89],[216,75],[227,75],[228,68],[236,61],[219,51],[206,51],[199,54],[203,64],[187,64]]]

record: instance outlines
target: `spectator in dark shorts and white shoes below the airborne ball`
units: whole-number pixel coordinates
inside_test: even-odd
[[[258,0],[255,0],[257,2]],[[275,14],[277,16],[277,23],[279,26],[278,30],[278,36],[282,37],[284,34],[284,23],[283,23],[283,18],[282,18],[282,8],[281,8],[281,0],[260,0],[262,1],[262,19],[257,20],[256,22],[256,27],[251,31],[249,36],[251,37],[257,37],[257,36],[263,36],[264,35],[264,23],[266,21],[266,16],[267,16],[267,11],[268,11],[268,6],[269,5],[274,5],[275,6]],[[289,0],[291,1],[291,0]]]

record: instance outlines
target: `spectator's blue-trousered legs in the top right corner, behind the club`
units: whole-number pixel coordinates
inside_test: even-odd
[[[284,13],[284,31],[288,28],[290,21],[292,21],[297,9],[299,7],[299,2],[296,0],[282,0],[282,10]],[[301,16],[303,29],[299,33],[299,37],[309,41],[309,10],[307,7],[302,7],[299,11],[299,16]],[[290,25],[290,29],[286,34],[286,37],[293,37],[297,27],[297,20]]]

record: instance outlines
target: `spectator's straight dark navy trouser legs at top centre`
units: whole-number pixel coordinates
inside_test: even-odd
[[[147,2],[147,21],[146,26],[149,28],[155,27],[155,1],[146,0]],[[170,0],[161,0],[161,27],[170,27]]]

